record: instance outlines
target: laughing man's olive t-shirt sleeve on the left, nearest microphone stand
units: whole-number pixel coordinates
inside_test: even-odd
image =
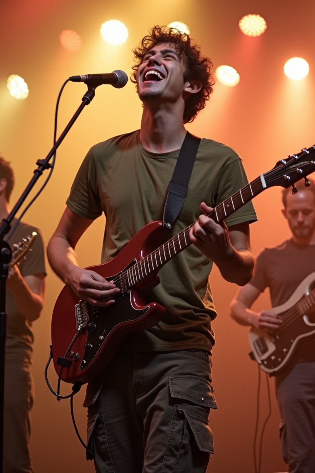
[[[79,167],[66,204],[75,214],[85,219],[94,220],[102,215],[93,147]]]

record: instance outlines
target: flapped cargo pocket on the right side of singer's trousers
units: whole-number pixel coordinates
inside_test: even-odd
[[[217,409],[211,383],[202,377],[173,375],[169,377],[170,395],[182,400],[176,405],[187,421],[200,451],[213,454],[213,433],[208,425],[210,409]]]

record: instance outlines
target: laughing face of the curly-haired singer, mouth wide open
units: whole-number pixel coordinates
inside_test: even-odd
[[[177,101],[189,84],[184,82],[183,56],[174,44],[157,44],[147,51],[137,70],[137,90],[140,99],[148,102],[156,98]]]

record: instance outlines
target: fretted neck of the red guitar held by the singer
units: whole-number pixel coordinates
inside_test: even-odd
[[[254,181],[242,187],[238,192],[217,205],[207,216],[219,223],[229,217],[233,212],[240,209],[247,202],[251,201],[265,188],[264,175],[260,175]],[[193,225],[194,224],[185,228],[152,253],[142,258],[138,263],[131,266],[125,274],[128,286],[132,287],[145,279],[145,277],[152,272],[159,271],[165,263],[187,248],[187,246],[191,244],[189,230]]]

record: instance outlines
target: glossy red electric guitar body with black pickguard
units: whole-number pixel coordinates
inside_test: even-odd
[[[154,221],[142,228],[108,263],[90,266],[106,280],[119,278],[119,274],[139,262],[167,234],[161,221]],[[80,301],[65,286],[56,301],[51,321],[51,342],[54,367],[63,381],[82,384],[97,377],[107,366],[119,344],[134,331],[153,327],[163,317],[164,307],[145,303],[146,293],[159,283],[156,272],[145,281],[118,294],[110,307],[96,307]],[[84,320],[85,327],[69,349],[77,327]],[[59,357],[71,360],[68,367],[61,368]]]

